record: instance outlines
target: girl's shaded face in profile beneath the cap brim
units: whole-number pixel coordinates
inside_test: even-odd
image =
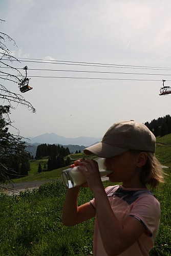
[[[141,168],[137,167],[138,155],[126,151],[118,156],[106,158],[104,165],[107,170],[112,170],[109,180],[122,182],[125,187],[140,187],[139,176]]]

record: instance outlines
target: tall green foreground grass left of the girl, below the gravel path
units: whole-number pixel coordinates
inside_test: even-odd
[[[61,223],[66,189],[51,182],[33,193],[0,196],[0,255],[91,255],[94,220],[75,227]],[[92,198],[83,188],[80,203]]]

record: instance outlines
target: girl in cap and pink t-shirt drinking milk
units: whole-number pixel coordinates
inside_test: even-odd
[[[105,158],[106,169],[112,171],[109,180],[122,185],[104,189],[95,161],[74,162],[86,176],[94,199],[78,207],[81,186],[68,189],[62,221],[73,226],[96,217],[94,256],[148,255],[153,248],[160,205],[146,184],[155,187],[163,182],[155,150],[156,138],[144,124],[123,121],[113,124],[101,142],[84,150],[87,155]]]

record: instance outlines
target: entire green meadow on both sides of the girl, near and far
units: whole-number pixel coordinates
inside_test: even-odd
[[[157,138],[156,155],[160,162],[171,167],[171,135]],[[78,159],[82,154],[73,154]],[[61,222],[66,188],[60,177],[60,168],[51,172],[37,173],[38,164],[44,166],[47,159],[31,160],[29,176],[15,181],[52,180],[38,189],[25,191],[19,196],[0,196],[0,255],[71,256],[93,255],[94,219],[74,227]],[[170,255],[171,251],[171,195],[170,168],[164,169],[165,183],[152,189],[161,205],[161,221],[155,247],[150,255]],[[58,179],[59,178],[59,179]],[[56,180],[57,181],[54,181]],[[105,181],[104,187],[111,185]],[[92,199],[89,188],[81,188],[78,203]]]

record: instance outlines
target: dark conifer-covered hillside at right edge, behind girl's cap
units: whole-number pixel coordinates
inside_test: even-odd
[[[144,124],[148,127],[149,130],[154,133],[156,137],[162,137],[166,134],[171,133],[170,115],[159,117],[158,119],[153,119],[151,122],[145,122]]]

